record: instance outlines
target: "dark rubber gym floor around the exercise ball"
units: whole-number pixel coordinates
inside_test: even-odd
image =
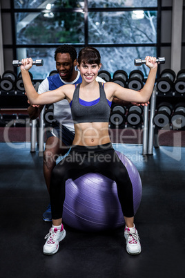
[[[81,232],[65,225],[66,238],[53,256],[42,253],[51,223],[43,157],[29,142],[0,143],[0,277],[185,277],[185,148],[159,147],[142,156],[142,145],[114,144],[137,167],[142,202],[135,215],[142,253],[126,252],[124,227]]]

